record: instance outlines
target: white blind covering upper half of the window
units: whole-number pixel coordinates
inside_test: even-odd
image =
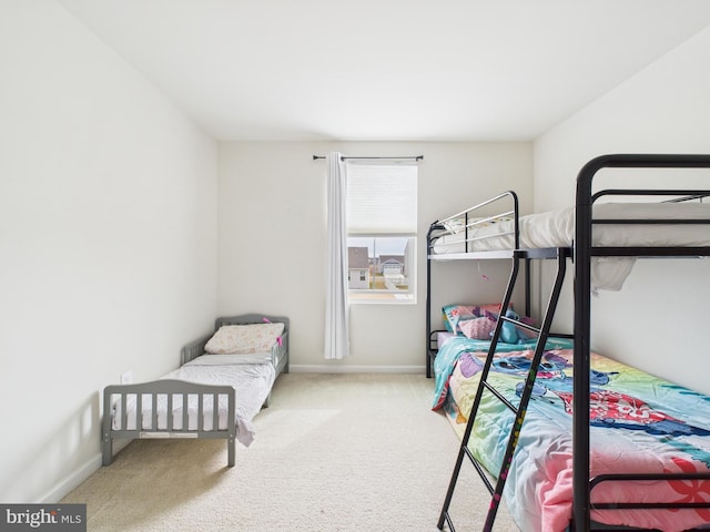
[[[416,163],[347,162],[347,233],[416,234]]]

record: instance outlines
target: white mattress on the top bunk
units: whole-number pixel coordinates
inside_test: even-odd
[[[710,219],[710,204],[702,203],[600,203],[594,207],[598,219]],[[469,221],[470,223],[470,221]],[[452,234],[433,243],[436,255],[466,252],[466,233],[460,219],[444,224]],[[469,228],[468,252],[511,249],[514,223],[505,221],[480,228]],[[520,248],[568,247],[575,238],[575,207],[521,216]],[[506,234],[508,233],[508,234]],[[485,238],[481,238],[485,237]],[[597,224],[592,228],[592,245],[621,247],[710,246],[710,225],[707,224]],[[592,258],[591,285],[596,289],[619,290],[631,273],[632,257]]]

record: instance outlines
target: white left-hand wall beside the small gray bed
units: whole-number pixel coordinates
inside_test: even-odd
[[[216,309],[216,143],[53,1],[0,3],[0,501],[100,464],[100,392]]]

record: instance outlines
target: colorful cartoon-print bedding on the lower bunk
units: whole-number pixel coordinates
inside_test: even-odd
[[[478,387],[485,352],[449,340],[436,358],[435,408],[444,408],[459,437]],[[443,356],[442,356],[443,355]],[[440,357],[440,358],[439,358]],[[489,382],[517,403],[532,352],[498,352]],[[504,499],[526,531],[562,531],[571,519],[574,356],[546,351],[528,405]],[[688,473],[710,471],[710,397],[656,378],[618,361],[591,355],[590,468],[604,473]],[[513,413],[486,393],[469,449],[498,472]],[[594,502],[710,501],[710,481],[604,482]],[[595,511],[607,524],[682,531],[710,523],[710,510]]]

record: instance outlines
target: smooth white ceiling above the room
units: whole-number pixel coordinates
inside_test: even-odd
[[[217,140],[527,141],[707,0],[58,0]]]

